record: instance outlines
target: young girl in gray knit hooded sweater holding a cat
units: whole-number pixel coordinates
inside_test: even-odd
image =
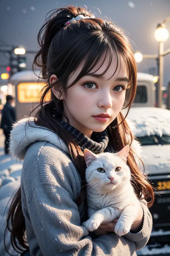
[[[154,193],[138,167],[133,136],[121,110],[130,108],[137,68],[123,31],[86,9],[57,9],[38,34],[34,64],[48,85],[35,118],[11,133],[13,155],[24,159],[21,188],[10,206],[7,228],[16,251],[32,256],[135,256],[147,243]],[[51,100],[44,104],[45,96]],[[118,152],[129,144],[128,165],[140,206],[131,232],[119,237],[113,223],[94,233],[82,226],[86,206],[85,148]],[[127,195],[128,196],[128,195]]]

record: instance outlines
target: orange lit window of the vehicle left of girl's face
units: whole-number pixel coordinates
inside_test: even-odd
[[[37,83],[37,82],[26,82],[20,83],[17,86],[18,93],[18,101],[20,103],[36,103],[39,102],[41,97],[41,90],[46,86],[46,83]],[[44,102],[48,102],[50,100],[51,93],[47,94]]]

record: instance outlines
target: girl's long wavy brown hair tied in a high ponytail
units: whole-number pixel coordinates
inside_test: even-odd
[[[123,59],[123,62],[126,63],[129,79],[124,108],[129,111],[136,94],[137,67],[128,38],[124,35],[123,30],[112,22],[101,18],[89,18],[65,25],[71,18],[80,14],[92,17],[90,12],[80,7],[68,6],[67,8],[57,9],[52,14],[49,13],[46,22],[38,33],[40,50],[34,59],[34,64],[41,67],[42,76],[46,79],[47,86],[41,96],[34,121],[37,125],[44,126],[56,133],[69,148],[72,161],[82,179],[82,189],[76,203],[80,205],[84,201],[85,209],[87,209],[83,152],[71,134],[57,121],[57,117],[62,117],[65,113],[62,100],[55,97],[51,88],[58,86],[61,91],[66,91],[68,87],[74,86],[82,76],[98,70],[106,58],[109,58],[109,62],[104,73],[112,64],[113,58],[117,62],[116,70],[121,66]],[[82,61],[84,66],[81,72],[75,81],[68,85],[69,77],[82,64]],[[104,73],[101,75],[104,75]],[[58,80],[50,85],[49,78],[52,74],[55,74]],[[45,97],[48,93],[51,93],[51,100],[45,104]],[[66,118],[69,122],[68,117]],[[107,130],[109,143],[116,152],[127,144],[132,145],[134,138],[122,113],[118,114],[117,118],[107,127]],[[128,165],[131,169],[132,185],[137,197],[141,198],[143,194],[144,198],[148,200],[148,206],[151,206],[154,202],[154,192],[147,176],[139,169],[136,159],[135,152],[130,149]],[[8,211],[6,228],[6,232],[8,230],[11,232],[11,244],[18,252],[21,252],[22,248],[28,248],[24,236],[25,221],[21,195],[21,188],[19,188]],[[86,217],[85,211],[84,219]]]

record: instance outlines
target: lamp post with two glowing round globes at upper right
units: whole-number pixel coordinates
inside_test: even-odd
[[[137,51],[134,54],[137,63],[140,63],[142,59],[156,59],[157,60],[157,72],[159,76],[159,80],[157,83],[157,95],[158,95],[158,102],[157,107],[162,107],[162,87],[163,87],[163,80],[164,80],[164,56],[170,53],[170,48],[164,51],[164,42],[169,37],[169,32],[165,27],[165,23],[170,21],[170,16],[167,17],[161,24],[157,25],[155,30],[154,36],[157,42],[159,42],[159,51],[158,54],[141,54]]]

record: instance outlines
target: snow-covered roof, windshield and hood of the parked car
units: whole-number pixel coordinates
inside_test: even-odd
[[[143,162],[149,174],[170,174],[170,111],[162,108],[131,108],[128,119],[136,125]],[[170,186],[170,185],[169,185]]]

